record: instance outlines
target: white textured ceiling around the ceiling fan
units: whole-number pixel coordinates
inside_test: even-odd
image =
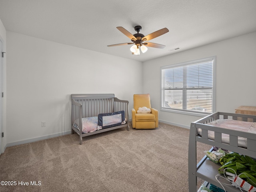
[[[144,62],[256,31],[256,0],[0,0],[8,31]],[[117,26],[145,36],[164,49],[132,55],[131,42]],[[169,51],[180,47],[180,50]]]

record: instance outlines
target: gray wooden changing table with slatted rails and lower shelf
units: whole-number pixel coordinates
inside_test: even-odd
[[[220,164],[216,164],[209,160],[206,156],[197,164],[196,162],[196,143],[201,142],[210,146],[216,146],[256,158],[256,134],[253,132],[244,132],[240,130],[232,130],[230,128],[222,128],[214,126],[211,122],[216,120],[235,120],[237,123],[251,122],[255,126],[256,116],[245,114],[233,114],[224,112],[215,112],[200,120],[192,122],[190,125],[189,147],[188,147],[188,183],[189,191],[197,191],[197,177],[222,188],[215,179],[218,174]],[[241,122],[242,121],[242,122]],[[200,130],[200,134],[199,134]],[[255,129],[254,129],[255,130]],[[211,136],[209,135],[211,132]],[[223,139],[223,135],[228,136],[228,142]],[[214,136],[214,138],[212,137]],[[246,141],[246,146],[241,146],[240,140]],[[206,149],[212,150],[212,149]],[[224,181],[223,181],[224,182]],[[228,192],[241,192],[234,186],[224,185]]]

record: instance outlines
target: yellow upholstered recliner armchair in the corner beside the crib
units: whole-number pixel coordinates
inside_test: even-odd
[[[151,113],[137,113],[140,107],[151,109]],[[134,94],[132,108],[132,128],[154,129],[158,127],[158,110],[151,108],[149,94]]]

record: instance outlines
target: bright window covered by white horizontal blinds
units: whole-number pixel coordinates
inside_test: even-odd
[[[215,61],[214,56],[162,67],[162,110],[187,114],[214,112]]]

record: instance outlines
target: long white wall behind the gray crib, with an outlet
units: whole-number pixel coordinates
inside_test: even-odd
[[[7,52],[8,146],[69,133],[70,94],[114,93],[131,109],[142,92],[141,62],[9,31]]]

